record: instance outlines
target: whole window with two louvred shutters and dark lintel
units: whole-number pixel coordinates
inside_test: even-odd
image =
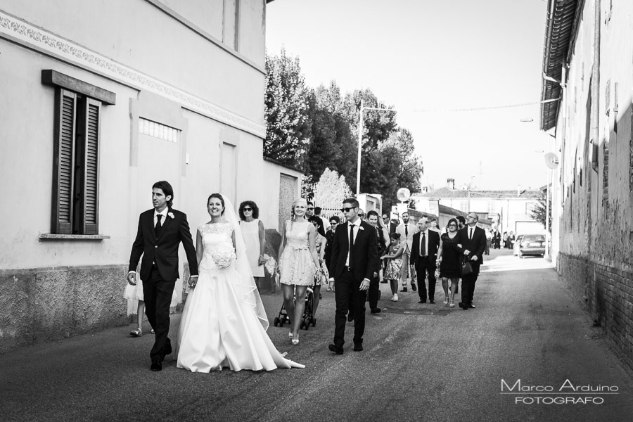
[[[114,94],[54,70],[42,82],[55,87],[51,231],[98,234],[99,100],[113,104]]]

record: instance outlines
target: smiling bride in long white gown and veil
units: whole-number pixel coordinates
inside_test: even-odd
[[[177,366],[192,372],[304,368],[284,358],[266,333],[268,317],[233,206],[213,193],[207,211],[211,221],[198,227],[196,237],[200,277],[190,282]]]

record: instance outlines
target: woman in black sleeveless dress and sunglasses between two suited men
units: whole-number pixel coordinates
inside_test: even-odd
[[[444,289],[444,305],[455,307],[454,296],[461,275],[461,245],[457,243],[457,220],[449,219],[447,232],[440,238],[440,249],[437,250],[437,262],[440,264],[440,278]],[[451,281],[449,297],[448,281]]]

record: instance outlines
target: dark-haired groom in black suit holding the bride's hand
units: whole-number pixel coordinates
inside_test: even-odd
[[[141,261],[141,280],[145,313],[155,331],[154,346],[150,352],[151,370],[160,371],[162,360],[172,352],[170,332],[170,303],[178,274],[178,246],[182,242],[189,262],[191,279],[198,279],[198,261],[193,248],[187,216],[172,208],[174,189],[167,181],[152,186],[153,210],[139,217],[139,231],[129,255],[127,282],[136,285],[136,265]],[[139,318],[142,318],[139,315]]]

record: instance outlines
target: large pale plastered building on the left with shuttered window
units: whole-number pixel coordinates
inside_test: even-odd
[[[300,173],[262,157],[266,4],[2,3],[0,352],[127,323],[155,181],[194,236],[213,192],[279,228]]]

